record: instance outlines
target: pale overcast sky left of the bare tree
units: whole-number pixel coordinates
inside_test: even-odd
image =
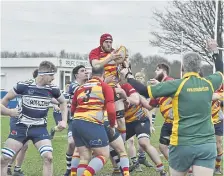
[[[113,46],[126,46],[130,55],[163,55],[149,45],[151,30],[160,31],[152,18],[168,1],[4,1],[1,12],[1,49],[88,54],[110,33]]]

